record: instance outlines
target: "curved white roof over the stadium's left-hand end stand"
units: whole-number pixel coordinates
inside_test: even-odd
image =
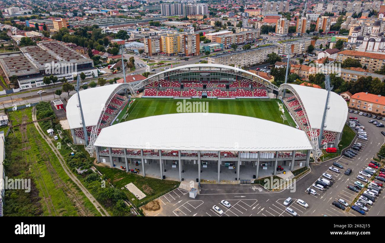
[[[80,90],[80,101],[82,102],[85,126],[95,126],[99,121],[100,113],[107,102],[108,97],[120,83],[105,85],[102,87],[87,88]],[[66,112],[70,129],[82,127],[80,122],[80,110],[77,107],[77,95],[72,95],[68,100]]]

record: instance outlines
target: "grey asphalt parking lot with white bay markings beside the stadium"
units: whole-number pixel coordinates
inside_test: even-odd
[[[348,117],[352,116],[349,113]],[[297,180],[295,183],[295,191],[289,189],[278,192],[267,192],[259,185],[202,185],[201,194],[195,199],[189,198],[189,193],[185,190],[176,189],[158,198],[161,210],[155,212],[146,212],[147,216],[291,216],[285,211],[286,207],[283,201],[291,197],[292,201],[288,207],[294,210],[298,216],[363,216],[360,213],[351,210],[352,201],[355,200],[358,193],[348,189],[353,186],[359,175],[359,171],[365,170],[373,155],[377,153],[380,146],[384,143],[384,136],[380,133],[385,131],[371,123],[371,118],[358,116],[360,123],[365,126],[367,140],[356,137],[352,143],[361,143],[361,149],[356,151],[357,155],[352,158],[341,156],[329,161],[321,163],[310,163],[311,171]],[[348,121],[349,119],[347,119]],[[349,146],[350,148],[351,146]],[[331,171],[330,166],[337,162],[342,166],[338,168],[340,173]],[[344,172],[350,168],[350,175]],[[326,178],[323,173],[331,175]],[[314,188],[312,185],[318,178],[330,180],[330,186],[324,190]],[[363,181],[361,181],[365,184]],[[312,195],[308,193],[308,188],[315,191]],[[366,189],[362,189],[365,191]],[[309,207],[296,203],[297,199],[304,200]],[[341,210],[332,205],[333,201],[342,199],[349,206],[345,210]],[[368,216],[385,216],[383,206],[385,204],[385,196],[379,194],[375,197],[373,205],[366,205]],[[230,208],[226,208],[221,204],[222,200],[226,200],[231,204]],[[219,215],[213,210],[213,206],[218,206],[223,214]]]

